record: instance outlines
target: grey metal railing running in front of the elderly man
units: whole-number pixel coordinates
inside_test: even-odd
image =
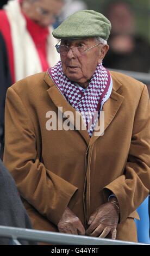
[[[11,245],[21,245],[18,240],[45,242],[53,245],[146,245],[91,236],[68,235],[33,229],[5,227],[0,225],[0,237],[9,238]]]

